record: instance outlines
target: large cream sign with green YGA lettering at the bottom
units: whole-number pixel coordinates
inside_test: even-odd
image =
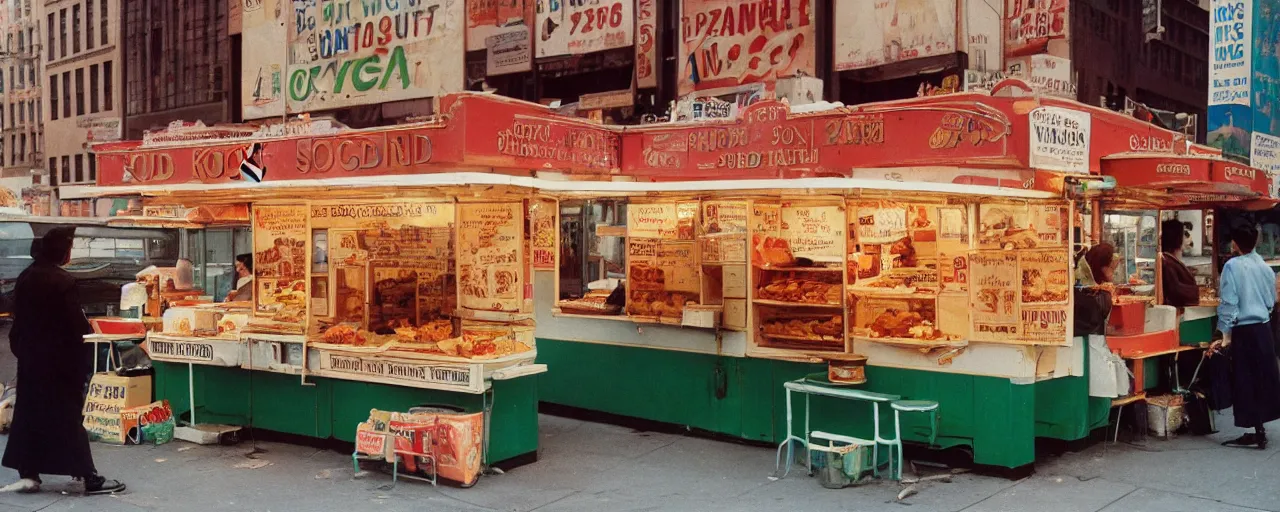
[[[288,111],[439,96],[463,88],[461,0],[293,3]]]

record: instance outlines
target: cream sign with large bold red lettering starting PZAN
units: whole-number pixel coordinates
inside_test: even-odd
[[[817,74],[812,0],[680,4],[680,95]]]

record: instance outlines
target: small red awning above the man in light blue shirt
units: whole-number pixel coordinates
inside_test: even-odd
[[[1266,172],[1210,155],[1121,154],[1102,159],[1117,193],[1147,196],[1164,207],[1271,202]]]

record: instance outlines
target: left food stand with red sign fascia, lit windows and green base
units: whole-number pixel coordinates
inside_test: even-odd
[[[370,131],[303,120],[283,137],[95,147],[100,187],[69,195],[251,212],[253,301],[165,310],[148,340],[159,397],[188,419],[195,403],[200,422],[348,442],[370,410],[484,412],[486,463],[535,460],[547,367],[534,364],[530,276],[556,264],[556,202],[530,175],[607,175],[617,136],[488,95],[438,111]],[[260,184],[239,174],[247,155]]]

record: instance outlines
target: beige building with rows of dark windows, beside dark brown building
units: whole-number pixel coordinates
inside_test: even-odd
[[[44,6],[45,165],[56,186],[97,179],[91,141],[120,138],[118,0],[52,0]],[[92,216],[88,201],[61,201],[63,215]]]

